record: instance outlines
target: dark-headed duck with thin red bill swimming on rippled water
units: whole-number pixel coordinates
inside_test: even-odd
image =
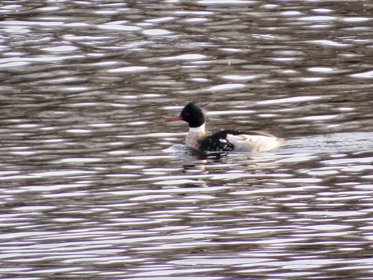
[[[202,152],[265,152],[291,145],[285,139],[258,131],[221,130],[207,134],[205,112],[196,102],[185,105],[177,116],[163,118],[187,122],[189,131],[186,134],[185,146]]]

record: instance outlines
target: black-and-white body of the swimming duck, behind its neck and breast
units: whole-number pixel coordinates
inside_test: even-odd
[[[289,144],[268,133],[222,130],[207,136],[201,142],[200,149],[206,152],[263,152]]]

